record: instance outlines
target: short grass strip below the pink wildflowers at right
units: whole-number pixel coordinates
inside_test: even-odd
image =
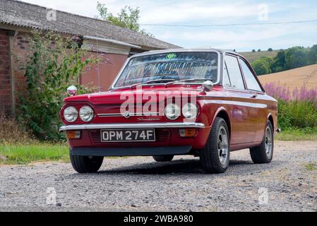
[[[277,141],[317,141],[315,129],[287,129],[277,134]]]

